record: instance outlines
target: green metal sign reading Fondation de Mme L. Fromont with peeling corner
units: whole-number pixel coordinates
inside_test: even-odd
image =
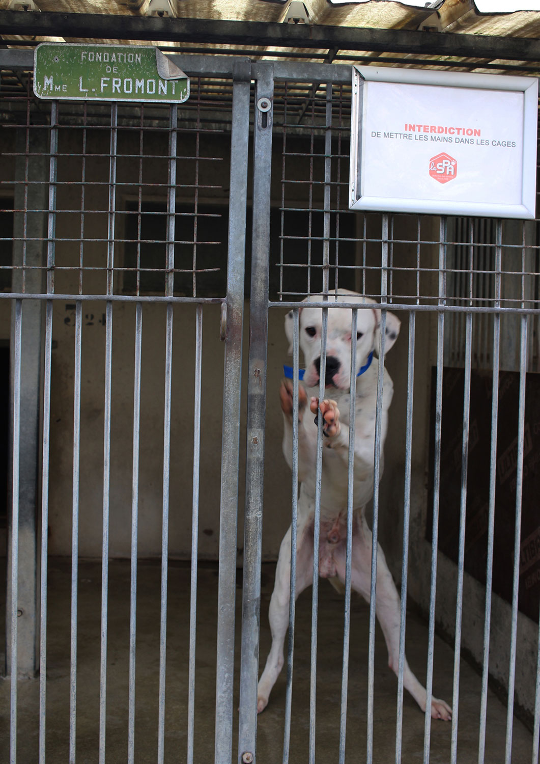
[[[183,103],[189,79],[149,45],[42,43],[34,54],[40,99]]]

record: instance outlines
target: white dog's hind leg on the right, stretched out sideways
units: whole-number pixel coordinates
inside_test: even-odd
[[[369,602],[371,583],[371,531],[367,527],[364,515],[357,516],[353,531],[351,587],[358,591]],[[344,578],[344,555],[340,557],[338,575]],[[388,665],[397,675],[399,670],[399,622],[400,599],[394,584],[392,574],[386,565],[384,552],[377,547],[377,588],[375,609],[380,626],[383,630],[388,649]],[[405,659],[403,665],[403,686],[412,694],[422,711],[425,711],[427,694],[425,688],[412,673]],[[431,714],[434,719],[450,720],[452,710],[445,701],[432,697]]]

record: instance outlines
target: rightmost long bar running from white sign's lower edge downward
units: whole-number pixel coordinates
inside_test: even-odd
[[[496,222],[494,307],[500,308],[503,222]],[[493,581],[493,539],[495,530],[497,422],[499,417],[500,313],[493,316],[493,380],[491,392],[490,495],[487,520],[486,606],[483,620],[482,694],[480,698],[480,730],[478,764],[484,764],[486,753],[487,680],[490,671],[491,591]]]

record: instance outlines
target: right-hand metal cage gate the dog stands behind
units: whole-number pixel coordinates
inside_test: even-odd
[[[535,421],[532,386],[537,364],[536,224],[425,215],[354,215],[347,209],[348,70],[342,74],[339,66],[304,68],[283,63],[273,63],[270,70],[270,64],[257,63],[254,73],[257,95],[253,204],[254,219],[263,233],[257,239],[254,227],[238,760],[251,761],[256,749],[257,675],[264,669],[270,647],[270,628],[264,610],[273,588],[272,575],[264,580],[264,564],[261,582],[260,562],[261,555],[264,562],[265,535],[272,532],[267,529],[273,525],[283,493],[273,479],[276,473],[283,477],[277,465],[274,470],[267,467],[271,485],[263,486],[260,450],[263,445],[271,448],[269,439],[264,444],[262,439],[265,432],[273,432],[277,407],[274,401],[282,376],[280,361],[274,361],[267,348],[276,344],[273,332],[280,331],[284,315],[280,307],[291,311],[295,326],[292,376],[296,379],[302,365],[298,301],[311,296],[314,304],[322,307],[322,368],[330,316],[347,307],[346,300],[339,305],[332,294],[332,290],[342,287],[373,300],[381,310],[383,325],[390,310],[402,322],[402,337],[388,357],[395,392],[384,446],[380,394],[377,402],[375,484],[370,508],[375,550],[372,571],[377,556],[383,555],[381,547],[377,547],[380,540],[390,570],[401,584],[399,660],[393,666],[397,686],[389,688],[393,694],[390,711],[383,700],[383,690],[378,689],[377,664],[380,660],[384,665],[386,646],[376,629],[377,581],[372,575],[367,593],[371,604],[364,617],[368,625],[366,632],[359,634],[354,627],[354,608],[359,605],[357,600],[351,601],[350,549],[341,611],[331,609],[325,590],[319,593],[319,562],[314,553],[309,616],[306,605],[301,606],[302,618],[310,623],[309,636],[304,629],[305,621],[299,623],[296,617],[299,542],[296,513],[301,446],[298,428],[294,429],[297,409],[293,408],[293,477],[286,500],[287,506],[292,501],[292,513],[282,521],[283,533],[292,520],[288,642],[283,669],[286,678],[278,678],[273,689],[277,698],[270,697],[269,710],[259,717],[259,740],[261,730],[264,735],[262,749],[259,742],[259,756],[264,761],[283,762],[298,759],[345,762],[359,757],[364,760],[364,756],[367,762],[406,761],[412,755],[408,736],[414,727],[417,739],[423,741],[425,762],[509,762],[519,756],[525,759],[532,756],[536,761],[538,591],[532,540],[536,538],[538,523],[534,502],[525,499],[536,474],[531,435]],[[265,107],[270,99],[272,113],[267,115],[260,108],[257,112],[257,105]],[[271,132],[267,131],[270,120]],[[260,173],[264,173],[264,181],[258,186]],[[259,289],[264,290],[264,295],[260,295]],[[313,297],[318,293],[319,302]],[[351,303],[349,307],[355,305]],[[370,310],[371,303],[362,307]],[[351,335],[355,334],[358,312],[359,309],[352,312]],[[286,345],[282,347],[286,353]],[[383,347],[380,354],[384,358]],[[323,389],[320,396],[325,394]],[[298,395],[295,386],[295,406],[299,405]],[[351,432],[350,442],[354,442],[354,421]],[[319,432],[319,490],[319,481],[325,480],[321,468],[323,440]],[[389,471],[391,477],[387,478]],[[319,496],[315,493],[313,549],[318,549],[320,543],[319,502],[320,493]],[[400,529],[396,537],[393,523],[398,518]],[[351,507],[348,523],[352,528]],[[414,604],[409,611],[408,592],[409,604]],[[325,610],[319,609],[319,601]],[[422,659],[417,664],[420,668],[415,670],[422,672],[428,698],[444,695],[453,705],[448,730],[440,730],[437,725],[441,722],[432,721],[430,714],[425,714],[420,728],[418,717],[412,720],[409,714],[414,704],[403,692],[406,625],[411,623],[415,629],[413,624],[419,611],[427,620],[427,628],[422,637]],[[495,612],[499,615],[495,616]],[[343,644],[342,652],[335,642],[328,641],[325,621],[328,617],[341,620],[338,639]],[[499,617],[503,627],[496,636],[498,629],[493,630],[491,624]],[[451,651],[447,656],[451,677],[446,689],[444,681],[441,688],[440,678],[441,670],[444,673],[440,662],[445,662],[441,636],[453,647],[453,654]],[[260,656],[259,637],[264,643]],[[351,665],[351,652],[357,649],[355,639],[367,643],[365,664]],[[407,652],[414,639],[415,636],[409,636]],[[295,649],[296,641],[301,648]],[[297,657],[299,649],[302,652]],[[329,649],[339,652],[341,657],[341,667],[333,667],[334,676],[325,666]],[[505,666],[490,674],[493,652],[504,656]],[[293,656],[300,664],[294,672]],[[463,700],[464,694],[469,693],[464,688],[470,665],[463,656],[481,675],[473,691],[473,713],[477,715],[474,735],[468,741],[470,748],[464,742],[465,717],[470,709],[465,710]],[[525,665],[529,668],[525,669]],[[359,691],[354,675],[366,670],[367,678]],[[530,681],[525,679],[523,670],[525,673],[530,670]],[[339,681],[335,681],[335,675]],[[492,695],[497,681],[503,687],[499,685],[496,693],[506,699],[506,706],[500,708],[504,733],[500,735],[499,750],[493,747],[492,727],[497,717]],[[274,704],[280,704],[280,711],[275,712],[280,713],[279,724],[275,718],[267,718],[267,714],[274,713],[270,711]],[[381,705],[390,711],[395,725],[390,739],[380,719]],[[525,708],[529,708],[529,717]],[[526,735],[521,737],[523,730],[515,714],[533,730],[529,741]],[[298,729],[299,720],[302,732]],[[360,735],[358,727],[362,730]],[[283,744],[278,746],[276,737],[281,736]],[[518,753],[522,744],[522,753]]]

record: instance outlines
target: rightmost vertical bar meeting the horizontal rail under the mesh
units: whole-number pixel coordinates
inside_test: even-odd
[[[523,303],[522,303],[523,304]],[[518,627],[518,588],[519,588],[519,542],[521,538],[522,490],[523,490],[523,439],[525,436],[525,380],[527,369],[527,329],[528,316],[521,316],[519,348],[519,415],[518,446],[516,465],[516,529],[514,534],[514,568],[512,591],[512,626],[510,631],[510,659],[508,678],[508,705],[506,711],[506,746],[505,764],[512,760],[512,734],[514,714],[514,687],[516,685],[516,651]]]

